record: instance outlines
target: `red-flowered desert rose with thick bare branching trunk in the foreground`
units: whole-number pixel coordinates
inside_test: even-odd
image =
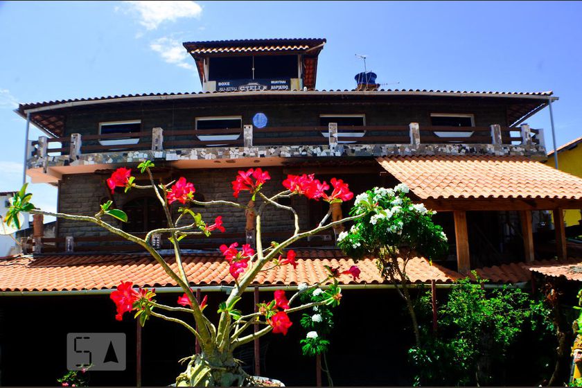
[[[274,292],[270,302],[259,303],[258,312],[244,314],[236,308],[236,304],[243,297],[243,292],[252,284],[255,277],[260,272],[274,270],[280,266],[297,266],[296,254],[292,249],[288,249],[292,243],[301,238],[312,236],[326,229],[340,227],[343,222],[358,220],[366,212],[358,212],[350,217],[329,222],[332,215],[332,207],[337,203],[351,200],[353,193],[349,191],[349,186],[341,179],[331,179],[330,185],[315,179],[314,175],[288,175],[283,181],[285,190],[272,196],[267,196],[261,192],[263,185],[268,184],[270,175],[261,168],[239,171],[236,179],[232,182],[233,196],[236,198],[249,195],[250,201],[247,204],[231,202],[227,200],[211,200],[201,202],[194,199],[195,186],[188,182],[186,178],[180,177],[176,181],[164,184],[156,182],[152,175],[154,164],[151,161],[143,161],[138,166],[141,174],[146,174],[149,184],[141,186],[135,183],[136,178],[132,175],[130,168],[118,168],[111,177],[107,179],[107,186],[113,191],[121,187],[125,192],[134,189],[152,190],[155,192],[161,206],[164,209],[167,220],[167,227],[149,231],[144,238],[127,233],[114,226],[111,218],[127,222],[127,215],[120,209],[112,208],[112,201],[101,205],[100,211],[95,215],[71,215],[67,213],[51,213],[35,208],[30,202],[32,194],[26,193],[26,185],[17,193],[12,200],[5,222],[15,224],[18,221],[20,212],[33,214],[52,215],[57,218],[68,220],[78,220],[92,222],[107,229],[111,233],[122,236],[126,240],[141,245],[164,271],[184,290],[176,302],[176,306],[166,306],[158,303],[155,299],[155,290],[145,288],[135,288],[129,281],[121,280],[117,290],[112,292],[111,299],[117,308],[116,319],[123,319],[125,312],[131,312],[139,319],[143,325],[150,317],[157,317],[173,321],[187,328],[200,344],[200,354],[186,358],[188,367],[176,380],[177,386],[199,386],[199,385],[257,385],[259,382],[252,376],[248,376],[233,358],[233,351],[241,345],[252,342],[257,337],[270,333],[286,335],[293,325],[290,314],[293,312],[312,309],[317,306],[337,306],[342,297],[341,289],[338,285],[340,276],[357,277],[360,273],[357,267],[339,268],[328,267],[326,276],[313,285],[301,287],[288,299],[283,290]],[[324,218],[308,231],[299,229],[299,215],[291,206],[285,206],[279,201],[293,195],[303,195],[310,200],[322,200],[330,204],[330,210]],[[260,198],[260,203],[255,206],[255,202]],[[207,298],[199,303],[195,294],[191,290],[191,283],[188,281],[184,265],[182,263],[182,252],[180,240],[186,236],[205,235],[225,231],[222,224],[222,216],[218,216],[213,223],[202,220],[200,213],[195,213],[189,209],[188,205],[200,206],[227,205],[239,211],[245,211],[247,218],[254,220],[254,241],[256,247],[245,244],[242,247],[238,243],[221,245],[220,252],[224,256],[224,261],[229,263],[229,273],[235,283],[233,290],[225,301],[218,306],[209,306]],[[261,236],[262,215],[267,206],[274,206],[284,211],[289,211],[293,215],[294,233],[290,238],[279,243],[273,242],[268,247],[263,247]],[[335,205],[337,206],[337,205]],[[175,209],[177,207],[177,209]],[[248,222],[248,221],[247,221]],[[152,237],[164,233],[169,236],[173,245],[175,265],[170,265],[166,258],[161,256],[159,249],[152,243]],[[324,285],[325,287],[319,288]],[[325,288],[325,290],[323,290]],[[303,298],[305,303],[293,306],[294,302],[299,302],[299,298],[304,293],[312,294],[317,291],[317,299]],[[204,310],[212,308],[220,313],[218,322],[211,322],[204,315]],[[254,327],[259,329],[254,332]]]

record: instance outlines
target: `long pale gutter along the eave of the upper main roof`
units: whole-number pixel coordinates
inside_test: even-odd
[[[494,97],[494,98],[521,98],[529,100],[558,100],[558,97],[551,97],[547,95],[531,96],[524,94],[488,94],[488,93],[457,93],[457,92],[430,92],[430,91],[245,91],[233,93],[200,93],[200,94],[179,94],[171,96],[134,96],[134,97],[119,97],[107,98],[103,100],[86,100],[86,101],[70,101],[67,103],[59,103],[54,105],[45,105],[32,109],[25,109],[24,115],[28,113],[44,112],[53,109],[63,109],[68,107],[79,107],[84,105],[100,105],[106,103],[119,102],[136,102],[136,101],[155,101],[155,100],[180,100],[190,98],[219,98],[219,97],[249,97],[249,96],[443,96],[443,97]],[[17,110],[17,113],[26,117]]]

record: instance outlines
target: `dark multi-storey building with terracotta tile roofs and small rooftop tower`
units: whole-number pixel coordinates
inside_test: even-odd
[[[155,161],[157,178],[184,176],[208,200],[231,200],[231,180],[239,169],[251,166],[269,170],[268,192],[278,191],[290,173],[315,173],[327,180],[335,176],[354,193],[402,182],[414,200],[439,211],[436,222],[450,240],[450,254],[434,265],[425,258],[410,263],[411,283],[440,287],[473,269],[495,282],[519,283],[531,278],[529,265],[554,256],[567,260],[563,222],[556,222],[555,231],[538,230],[532,222],[533,211],[552,211],[559,220],[561,209],[582,208],[582,179],[539,163],[546,158],[543,130],[524,124],[549,100],[558,99],[551,91],[384,90],[367,74],[356,76],[359,83],[353,90],[317,90],[317,61],[325,44],[326,39],[186,42],[202,82],[200,93],[21,104],[17,113],[46,134],[28,142],[27,174],[33,182],[58,186],[59,211],[94,214],[101,203],[114,201],[130,216],[123,228],[135,233],[162,226],[161,208],[154,197],[138,191],[112,195],[105,179],[115,168],[136,166],[142,159]],[[344,213],[352,203],[342,205]],[[301,229],[326,212],[320,202],[304,198],[293,197],[290,204],[301,216]],[[229,214],[224,218],[227,233],[182,242],[184,249],[191,249],[185,264],[193,287],[211,294],[213,303],[233,283],[216,247],[224,241],[245,242],[245,215],[220,206],[197,211],[209,220]],[[263,220],[270,240],[292,233],[288,213],[270,210]],[[161,248],[169,247],[162,239]],[[297,274],[272,273],[256,283],[256,292],[264,286],[292,289],[314,281],[323,265],[353,262],[335,249],[333,231],[301,241],[297,253]],[[36,238],[33,254],[10,260],[14,265],[0,267],[3,324],[7,330],[26,330],[31,340],[42,338],[60,351],[66,330],[125,330],[131,338],[128,346],[136,345],[134,322],[114,321],[107,297],[121,279],[156,287],[161,298],[175,299],[175,285],[148,256],[92,224],[58,220],[54,238]],[[358,325],[358,317],[377,298],[397,300],[373,261],[359,265],[361,279],[344,285],[345,300],[356,297],[358,303],[346,302],[338,312],[340,333],[342,327]],[[38,301],[44,303],[38,306]],[[252,301],[245,303],[252,308]],[[66,315],[67,320],[53,322],[53,335],[47,338],[46,330],[22,323],[34,321],[35,314]],[[385,374],[374,376],[380,364],[371,360],[358,365],[360,369],[346,364],[391,346],[373,334],[390,325],[402,330],[406,317],[371,323],[360,333],[366,339],[362,344],[335,349],[330,362],[336,384],[357,384],[362,373],[370,384],[407,384],[398,380],[398,373],[392,380]],[[146,385],[172,382],[180,369],[176,361],[192,352],[194,344],[179,340],[186,334],[179,330],[166,332],[175,343],[165,344],[156,330],[169,328],[166,322],[153,321],[145,327],[141,367],[128,361],[127,373],[107,376],[133,385],[137,369]],[[299,367],[312,370],[312,360],[299,357],[299,337],[294,336],[277,339],[277,349],[263,348],[267,357],[261,371],[288,385],[313,385],[315,371],[313,378],[306,377],[309,373],[289,375],[270,362],[279,354],[273,352],[286,351],[297,355]],[[0,346],[1,383],[16,385],[21,375],[15,360],[24,355],[6,335]],[[378,362],[405,370],[400,357]],[[62,365],[58,357],[50,358],[38,380],[30,383],[51,385]]]

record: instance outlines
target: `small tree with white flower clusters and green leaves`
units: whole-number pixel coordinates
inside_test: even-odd
[[[420,333],[407,287],[406,267],[414,256],[430,260],[442,256],[448,243],[443,229],[432,222],[435,212],[423,204],[414,204],[407,197],[408,192],[408,186],[398,184],[394,189],[375,187],[358,195],[350,214],[360,217],[349,231],[337,236],[337,245],[355,259],[376,258],[380,274],[395,285],[406,303],[419,346]]]

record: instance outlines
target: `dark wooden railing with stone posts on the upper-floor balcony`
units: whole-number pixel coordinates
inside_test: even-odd
[[[222,139],[220,139],[222,137]],[[131,139],[138,139],[131,141]],[[101,141],[109,141],[105,145]],[[111,141],[115,141],[113,144]],[[126,141],[127,143],[124,143]],[[258,129],[244,125],[242,129],[217,132],[202,130],[163,130],[119,134],[71,134],[66,137],[40,136],[29,141],[28,158],[49,155],[78,155],[94,152],[120,152],[130,150],[172,150],[179,148],[209,147],[260,147],[278,145],[338,145],[358,144],[493,144],[493,145],[541,145],[544,146],[543,130],[529,125],[520,127],[440,127],[409,125],[365,125],[306,127],[269,127]]]

